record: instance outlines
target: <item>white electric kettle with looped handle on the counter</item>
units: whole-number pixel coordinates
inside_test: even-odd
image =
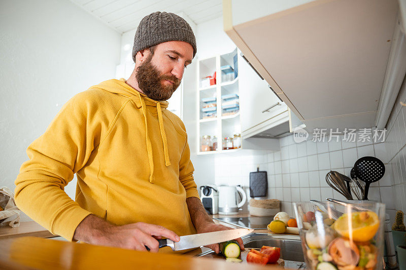
[[[218,191],[219,214],[238,214],[238,209],[242,207],[247,201],[247,195],[245,194],[244,189],[239,185],[221,185],[218,186]]]

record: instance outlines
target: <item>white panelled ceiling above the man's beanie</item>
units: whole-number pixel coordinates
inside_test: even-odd
[[[119,33],[136,29],[141,19],[156,11],[183,12],[195,24],[223,15],[221,0],[71,0]]]

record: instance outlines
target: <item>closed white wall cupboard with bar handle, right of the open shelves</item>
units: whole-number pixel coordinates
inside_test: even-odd
[[[268,137],[276,137],[288,131],[286,128],[284,131],[269,131],[289,121],[288,108],[241,55],[239,72],[242,136],[249,138],[268,130]]]

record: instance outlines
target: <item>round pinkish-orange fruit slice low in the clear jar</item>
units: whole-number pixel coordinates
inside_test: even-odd
[[[354,242],[344,238],[334,239],[327,250],[334,263],[339,266],[356,266],[360,259],[359,250]]]

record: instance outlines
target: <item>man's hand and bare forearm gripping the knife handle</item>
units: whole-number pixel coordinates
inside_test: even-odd
[[[162,226],[137,222],[116,226],[94,215],[88,215],[75,230],[74,240],[99,246],[158,252],[157,239],[162,237],[178,242],[179,236]]]

